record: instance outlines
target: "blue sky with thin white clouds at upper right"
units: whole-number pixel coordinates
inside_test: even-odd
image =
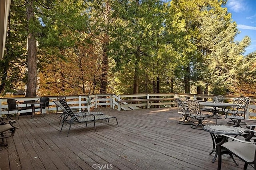
[[[256,51],[256,0],[228,0],[224,7],[228,8],[240,31],[235,40],[241,41],[246,35],[251,39],[244,55]]]

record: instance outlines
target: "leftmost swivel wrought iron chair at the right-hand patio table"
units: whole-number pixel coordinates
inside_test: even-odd
[[[194,122],[190,121],[190,112],[188,106],[185,105],[184,100],[177,98],[176,102],[178,107],[178,113],[182,114],[182,120],[178,121],[178,123],[183,125],[193,125]]]

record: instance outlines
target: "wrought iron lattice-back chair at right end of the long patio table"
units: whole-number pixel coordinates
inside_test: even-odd
[[[227,123],[235,124],[236,122],[234,119],[245,119],[246,111],[248,109],[248,106],[250,104],[249,98],[246,98],[244,96],[240,96],[238,98],[234,98],[233,101],[234,104],[237,104],[238,106],[234,106],[229,108],[226,111],[226,119],[231,119],[231,121],[228,121]],[[246,124],[245,122],[241,122],[240,124]]]

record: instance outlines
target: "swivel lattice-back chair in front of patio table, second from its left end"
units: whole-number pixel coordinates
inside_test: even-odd
[[[198,124],[191,125],[191,127],[194,129],[203,129],[204,125],[202,124],[202,121],[204,121],[204,119],[206,117],[212,116],[212,115],[207,114],[207,112],[209,112],[209,108],[201,109],[199,102],[194,101],[194,100],[188,100],[187,104],[188,104],[188,108],[190,111],[190,116],[193,116],[193,117],[195,117],[195,119],[198,120]],[[211,110],[213,113],[213,109],[211,109]],[[202,111],[204,111],[204,112],[202,112]]]

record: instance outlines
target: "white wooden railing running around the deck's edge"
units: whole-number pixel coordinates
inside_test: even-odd
[[[66,100],[71,107],[79,107],[85,111],[91,111],[97,107],[111,107],[118,110],[131,110],[131,109],[141,109],[150,107],[172,107],[174,106],[175,98],[179,96],[190,97],[191,99],[204,98],[204,100],[212,100],[214,95],[198,95],[198,94],[180,94],[180,93],[154,93],[154,94],[94,94],[89,96],[66,96]],[[50,112],[56,113],[56,105],[54,100],[59,96],[48,96],[50,98]],[[238,96],[224,96],[225,102],[231,102],[234,97]],[[40,96],[33,98],[18,97],[12,98],[18,101],[27,100],[38,100]],[[249,96],[250,106],[248,108],[246,117],[256,116],[256,96]],[[0,98],[0,115],[8,113],[8,98]],[[19,104],[19,107],[25,107],[26,104]],[[25,110],[20,111],[20,113],[25,112]],[[31,109],[27,110],[31,112]],[[15,113],[10,111],[10,113]]]

